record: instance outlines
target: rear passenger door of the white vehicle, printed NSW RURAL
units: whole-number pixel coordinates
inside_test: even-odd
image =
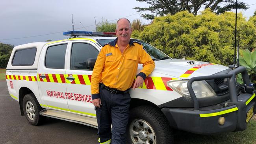
[[[52,109],[69,111],[66,97],[65,69],[67,42],[46,45],[39,60],[39,91],[43,105]]]

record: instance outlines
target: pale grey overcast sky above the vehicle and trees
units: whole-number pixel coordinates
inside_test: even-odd
[[[240,1],[248,5],[256,3],[255,0]],[[63,36],[63,31],[72,30],[71,14],[74,28],[82,31],[86,31],[83,26],[88,31],[95,30],[94,18],[96,23],[102,18],[116,22],[122,17],[130,21],[140,18],[144,23],[149,22],[133,9],[147,7],[147,4],[136,0],[1,0],[0,4],[0,42],[14,46],[67,38]],[[255,10],[256,4],[242,13],[249,18]]]

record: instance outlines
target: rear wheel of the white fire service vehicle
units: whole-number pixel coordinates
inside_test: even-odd
[[[22,101],[22,107],[28,123],[33,126],[42,124],[45,120],[45,116],[41,116],[39,112],[43,108],[37,102],[34,94],[26,94]]]

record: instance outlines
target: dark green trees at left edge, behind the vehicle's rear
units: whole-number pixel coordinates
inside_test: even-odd
[[[0,68],[6,68],[13,46],[0,43]]]

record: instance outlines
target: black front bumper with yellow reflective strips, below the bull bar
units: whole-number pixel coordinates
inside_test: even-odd
[[[210,135],[222,132],[243,131],[247,126],[247,113],[254,106],[253,114],[256,112],[255,93],[240,94],[238,96],[239,104],[228,104],[227,107],[215,105],[214,110],[211,107],[204,107],[202,110],[163,108],[161,111],[165,114],[170,126],[176,129],[189,131],[192,133]],[[223,125],[218,120],[225,118]],[[251,117],[250,117],[251,118]]]

